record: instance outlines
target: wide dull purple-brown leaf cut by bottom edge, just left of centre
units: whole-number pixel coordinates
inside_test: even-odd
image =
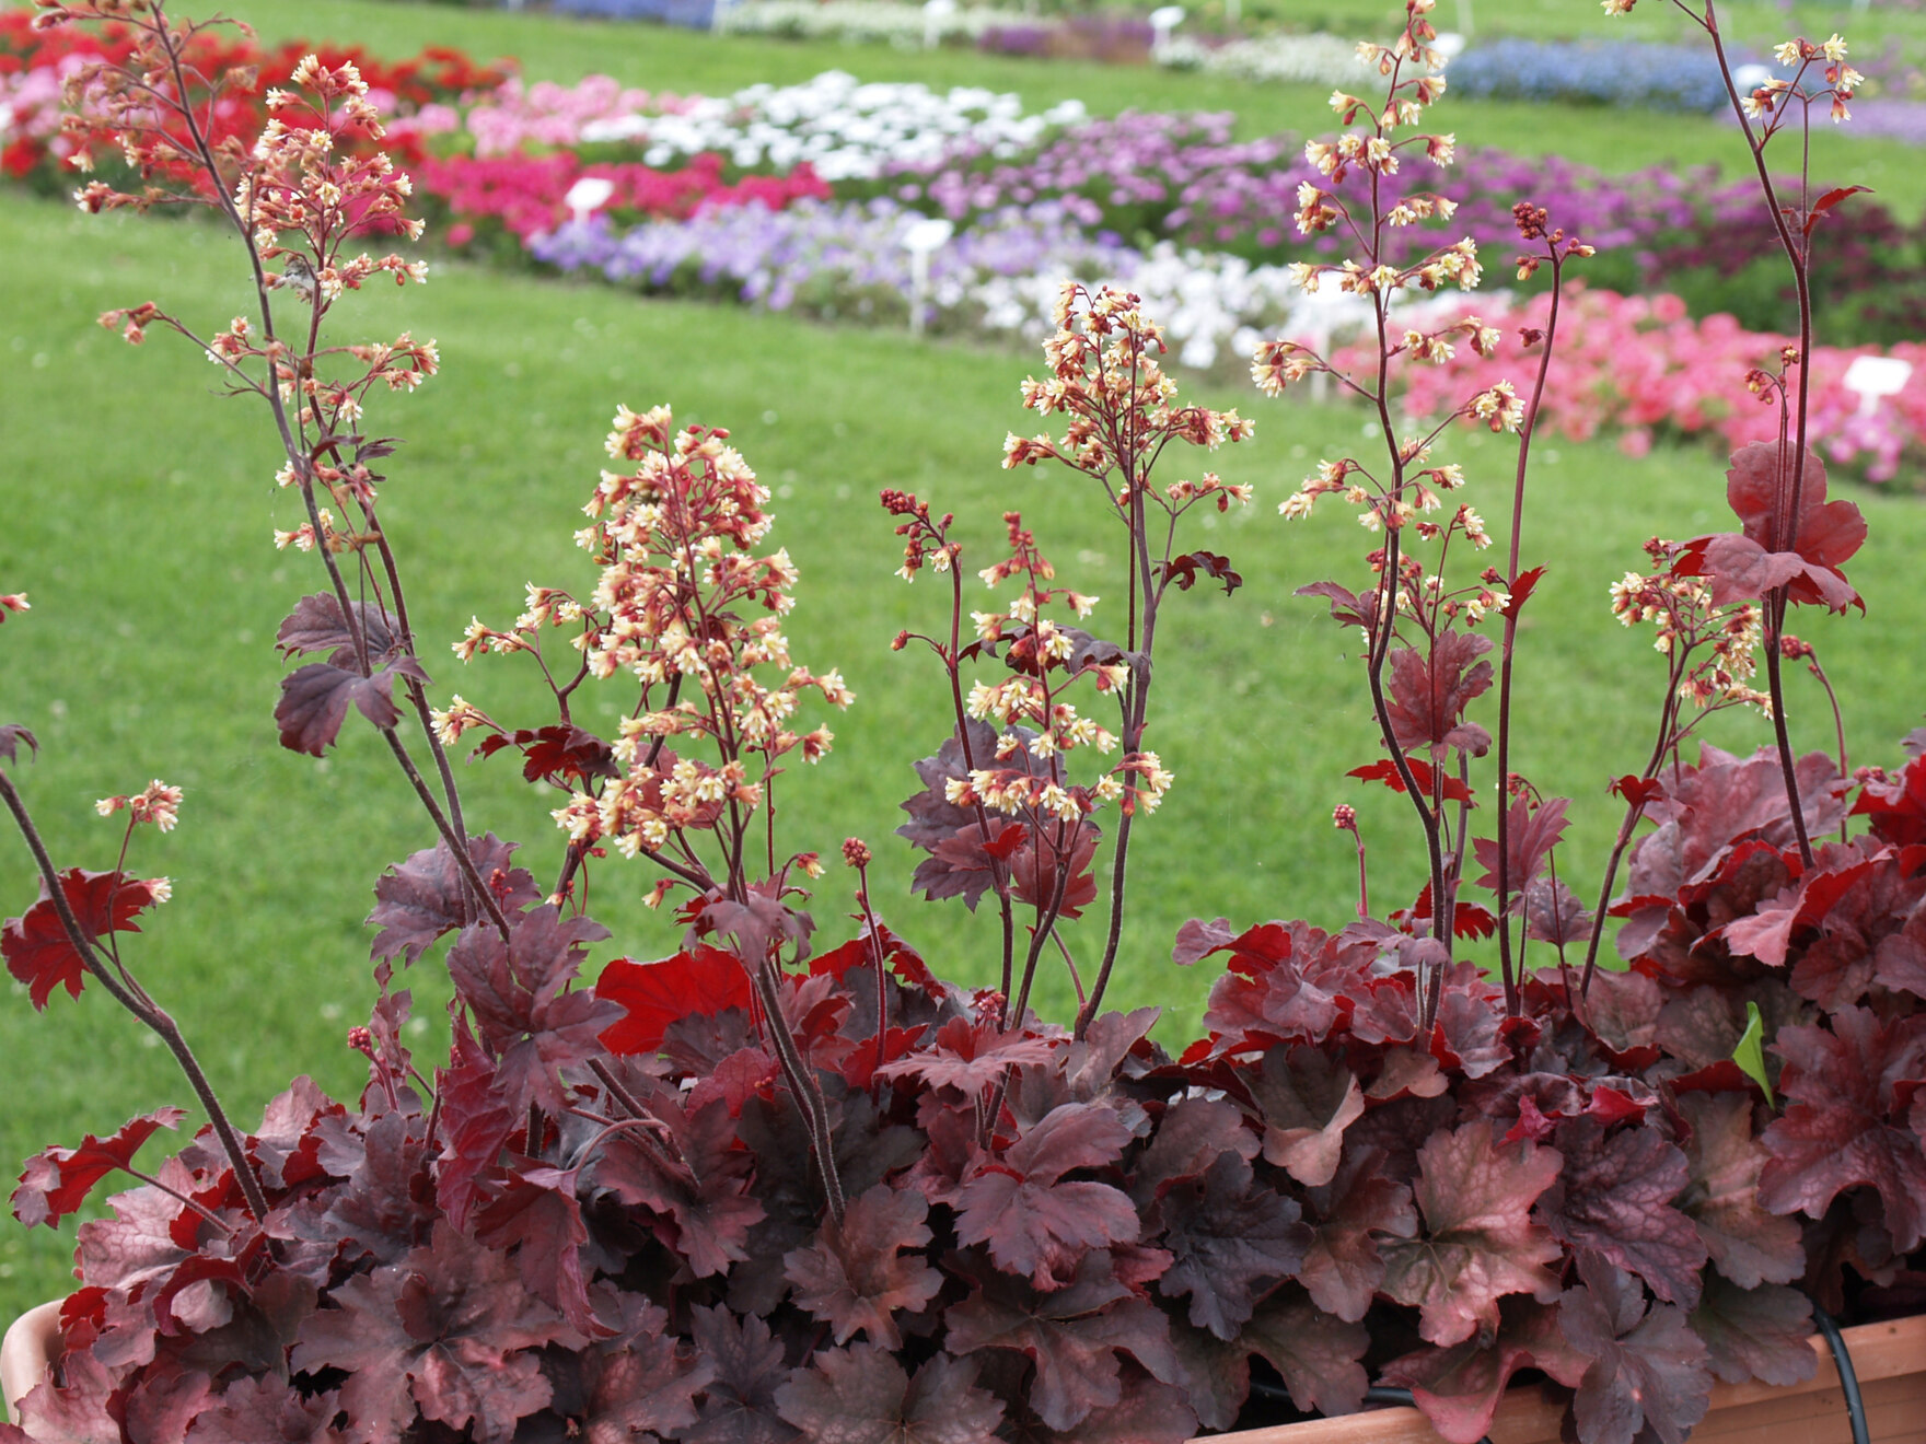
[[[976,1365],[938,1354],[915,1379],[871,1344],[822,1350],[776,1390],[805,1440],[849,1444],[996,1444],[1003,1405],[976,1384]]]

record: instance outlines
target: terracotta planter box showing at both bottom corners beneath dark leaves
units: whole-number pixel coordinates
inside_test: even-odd
[[[42,1303],[8,1328],[0,1386],[8,1419],[52,1357],[60,1303]],[[1845,1330],[1872,1444],[1926,1444],[1926,1315]],[[1814,1336],[1818,1373],[1791,1388],[1718,1384],[1693,1444],[1853,1444],[1845,1394],[1826,1340]],[[1491,1425],[1491,1444],[1558,1444],[1564,1405],[1535,1388],[1512,1390]],[[1418,1409],[1367,1409],[1340,1419],[1246,1429],[1196,1444],[1443,1444]]]

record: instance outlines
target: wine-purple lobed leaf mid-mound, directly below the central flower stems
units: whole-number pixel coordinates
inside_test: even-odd
[[[957,1198],[957,1240],[988,1244],[1000,1269],[1061,1288],[1088,1250],[1132,1242],[1136,1207],[1100,1182],[1061,1182],[1115,1163],[1131,1128],[1104,1103],[1061,1103],[1002,1155],[980,1155]]]

